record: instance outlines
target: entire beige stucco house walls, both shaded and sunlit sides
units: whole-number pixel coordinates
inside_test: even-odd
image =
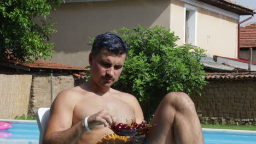
[[[57,33],[51,38],[56,53],[52,62],[86,67],[91,46],[89,37],[121,27],[163,26],[184,44],[184,2],[180,0],[119,0],[61,4],[52,13]],[[190,4],[191,5],[191,4]],[[195,5],[193,5],[195,6]],[[237,57],[238,20],[197,7],[197,46],[207,56]]]

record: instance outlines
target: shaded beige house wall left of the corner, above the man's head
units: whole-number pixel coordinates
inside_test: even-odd
[[[119,0],[61,4],[56,12],[57,33],[51,38],[57,52],[52,62],[88,65],[89,37],[121,27],[170,27],[170,0]]]

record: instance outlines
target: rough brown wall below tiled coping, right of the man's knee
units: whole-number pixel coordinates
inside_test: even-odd
[[[202,123],[256,124],[256,80],[211,80],[191,95]]]

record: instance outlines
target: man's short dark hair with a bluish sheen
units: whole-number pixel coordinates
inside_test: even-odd
[[[97,56],[103,49],[113,52],[116,55],[127,54],[128,52],[124,40],[115,33],[100,34],[94,39],[94,44],[92,44],[91,49],[92,55]]]

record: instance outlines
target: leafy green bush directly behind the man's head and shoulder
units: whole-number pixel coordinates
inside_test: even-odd
[[[164,27],[121,28],[118,33],[126,41],[129,53],[123,73],[113,87],[135,95],[146,118],[168,92],[200,94],[206,85],[201,77],[206,73],[200,64],[205,50],[177,46],[179,38]]]

